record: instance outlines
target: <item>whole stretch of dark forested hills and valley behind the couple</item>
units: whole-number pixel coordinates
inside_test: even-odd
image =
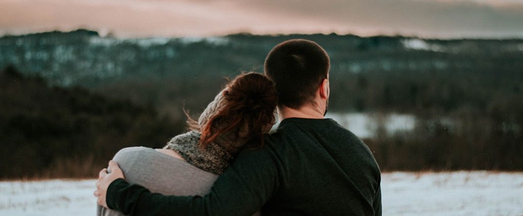
[[[0,178],[92,177],[121,147],[161,146],[183,108],[197,115],[224,77],[263,72],[291,38],[331,56],[329,111],[416,116],[413,131],[364,140],[382,170],[523,170],[523,40],[78,30],[0,38]]]

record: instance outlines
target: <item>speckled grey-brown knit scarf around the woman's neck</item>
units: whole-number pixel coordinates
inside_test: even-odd
[[[190,164],[217,175],[223,173],[225,168],[232,162],[232,155],[215,143],[209,143],[202,148],[199,145],[200,133],[189,131],[177,135],[164,147],[177,152]]]

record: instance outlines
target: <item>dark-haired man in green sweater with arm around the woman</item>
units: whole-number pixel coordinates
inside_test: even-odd
[[[327,53],[308,40],[278,44],[265,74],[278,93],[278,130],[244,150],[204,196],[152,194],[115,162],[101,170],[98,204],[135,215],[381,215],[380,171],[367,145],[332,119]],[[107,202],[106,202],[107,201]]]

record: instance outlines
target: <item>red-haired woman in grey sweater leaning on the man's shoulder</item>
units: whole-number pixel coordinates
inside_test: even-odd
[[[190,131],[163,149],[128,147],[116,153],[126,180],[166,195],[206,195],[218,175],[245,147],[263,145],[275,123],[276,90],[264,75],[234,78],[201,113]],[[123,215],[98,206],[97,215]]]

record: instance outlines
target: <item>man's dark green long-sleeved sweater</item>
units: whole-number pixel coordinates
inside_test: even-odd
[[[200,197],[152,194],[123,179],[109,208],[133,215],[381,215],[380,170],[365,143],[332,119],[285,119]]]

